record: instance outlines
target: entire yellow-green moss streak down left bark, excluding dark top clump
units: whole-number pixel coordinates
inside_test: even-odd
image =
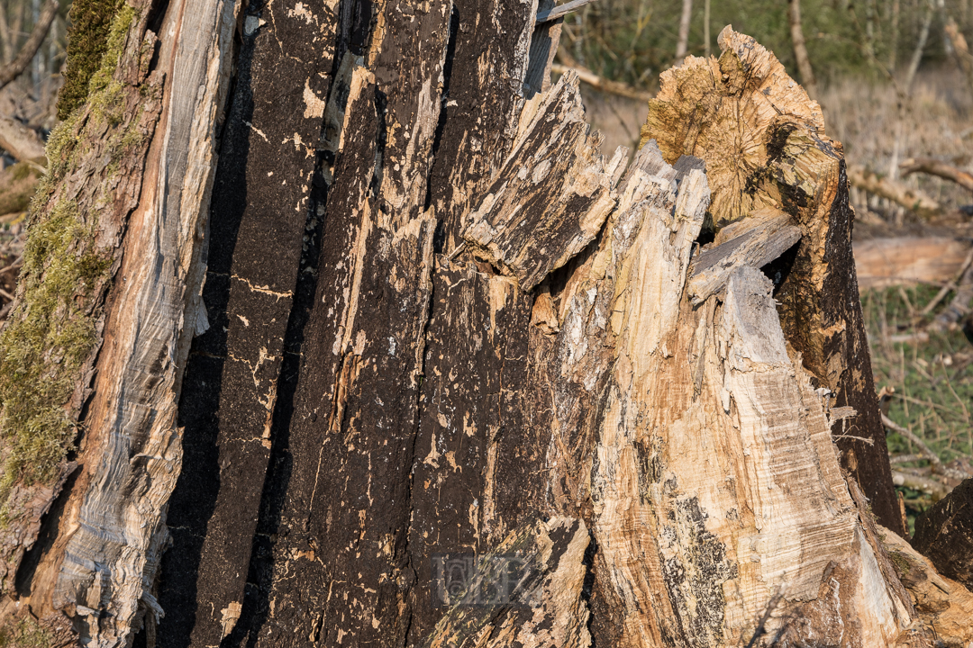
[[[113,8],[115,5],[112,5]],[[48,173],[30,208],[18,307],[0,332],[0,526],[18,518],[8,497],[15,484],[51,483],[77,436],[77,412],[69,406],[80,372],[97,343],[101,291],[110,281],[114,257],[96,246],[99,205],[110,200],[93,193],[82,208],[56,197],[63,179],[90,162],[91,138],[107,153],[103,175],[109,182],[120,160],[143,143],[140,118],[122,126],[130,91],[114,79],[137,12],[113,9],[101,67],[90,78],[88,110],[74,110],[48,141]],[[141,88],[140,88],[141,89]],[[97,180],[93,181],[97,182]]]

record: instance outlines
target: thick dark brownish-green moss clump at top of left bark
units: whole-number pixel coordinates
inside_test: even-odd
[[[75,0],[68,28],[64,85],[57,97],[57,119],[67,119],[85,103],[91,77],[101,68],[121,0]]]

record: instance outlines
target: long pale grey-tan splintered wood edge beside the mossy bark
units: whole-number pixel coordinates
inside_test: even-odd
[[[87,492],[78,488],[84,473],[75,487],[76,512],[68,503],[77,517],[61,521],[76,530],[51,595],[55,607],[73,608],[83,635],[106,646],[126,645],[143,615],[158,622],[162,614],[152,583],[168,537],[164,503],[182,459],[175,425],[182,370],[205,321],[199,289],[216,156],[212,124],[230,81],[234,5],[195,4],[190,12],[173,3],[168,12],[162,138],[153,142],[126,231],[124,282],[108,317],[112,338],[96,367],[82,448],[82,456],[97,459],[86,465]],[[145,257],[159,265],[147,266]]]

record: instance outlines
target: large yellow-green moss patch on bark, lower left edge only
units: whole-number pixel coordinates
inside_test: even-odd
[[[22,299],[0,333],[0,434],[10,452],[0,500],[17,481],[52,480],[76,434],[65,406],[96,341],[90,297],[112,264],[95,251],[94,230],[69,201],[31,227]],[[0,522],[9,514],[5,505]]]

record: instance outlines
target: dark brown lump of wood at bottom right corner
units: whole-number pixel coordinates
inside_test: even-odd
[[[939,573],[973,592],[973,479],[957,486],[916,520],[913,547]]]

